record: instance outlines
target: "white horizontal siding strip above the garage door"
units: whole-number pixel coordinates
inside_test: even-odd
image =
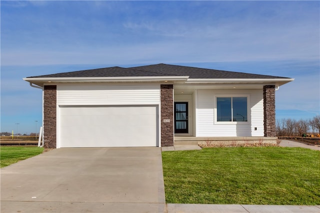
[[[57,85],[57,105],[154,105],[159,84],[74,83]]]

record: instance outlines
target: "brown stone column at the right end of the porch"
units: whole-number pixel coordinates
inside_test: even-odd
[[[264,137],[275,137],[275,86],[263,86]]]

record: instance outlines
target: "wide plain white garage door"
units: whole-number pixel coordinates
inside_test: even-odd
[[[60,147],[158,146],[157,106],[62,106]]]

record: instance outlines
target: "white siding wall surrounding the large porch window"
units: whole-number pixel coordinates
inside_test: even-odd
[[[215,96],[243,95],[248,97],[248,122],[218,124],[214,122]],[[196,136],[263,136],[262,90],[198,90],[196,100]],[[254,130],[254,127],[257,130]]]

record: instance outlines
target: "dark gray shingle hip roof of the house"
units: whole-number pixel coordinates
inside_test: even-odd
[[[168,64],[155,64],[140,67],[109,67],[93,70],[56,73],[50,75],[32,76],[27,78],[57,78],[57,77],[151,77],[151,76],[189,76],[190,79],[276,79],[284,78],[268,75],[257,75],[195,67],[185,67]]]

